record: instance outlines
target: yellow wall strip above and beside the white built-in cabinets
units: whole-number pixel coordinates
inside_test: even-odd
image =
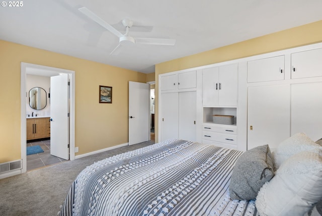
[[[155,142],[158,142],[158,75],[322,42],[322,21],[155,65]]]

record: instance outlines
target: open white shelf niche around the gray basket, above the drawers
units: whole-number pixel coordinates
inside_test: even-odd
[[[203,107],[203,123],[212,123],[213,115],[233,116],[233,124],[236,125],[237,108],[227,107]]]

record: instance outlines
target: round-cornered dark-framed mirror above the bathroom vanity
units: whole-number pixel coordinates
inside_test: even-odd
[[[29,105],[32,109],[42,110],[47,105],[47,94],[45,89],[34,87],[29,91]]]

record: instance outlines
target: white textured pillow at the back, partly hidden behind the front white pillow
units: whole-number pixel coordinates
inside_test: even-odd
[[[322,147],[304,133],[297,133],[281,142],[273,153],[276,169],[290,156],[302,151],[314,151]]]

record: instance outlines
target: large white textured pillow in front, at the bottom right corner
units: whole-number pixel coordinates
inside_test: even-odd
[[[322,198],[322,150],[301,152],[287,159],[256,197],[264,215],[303,215]]]

